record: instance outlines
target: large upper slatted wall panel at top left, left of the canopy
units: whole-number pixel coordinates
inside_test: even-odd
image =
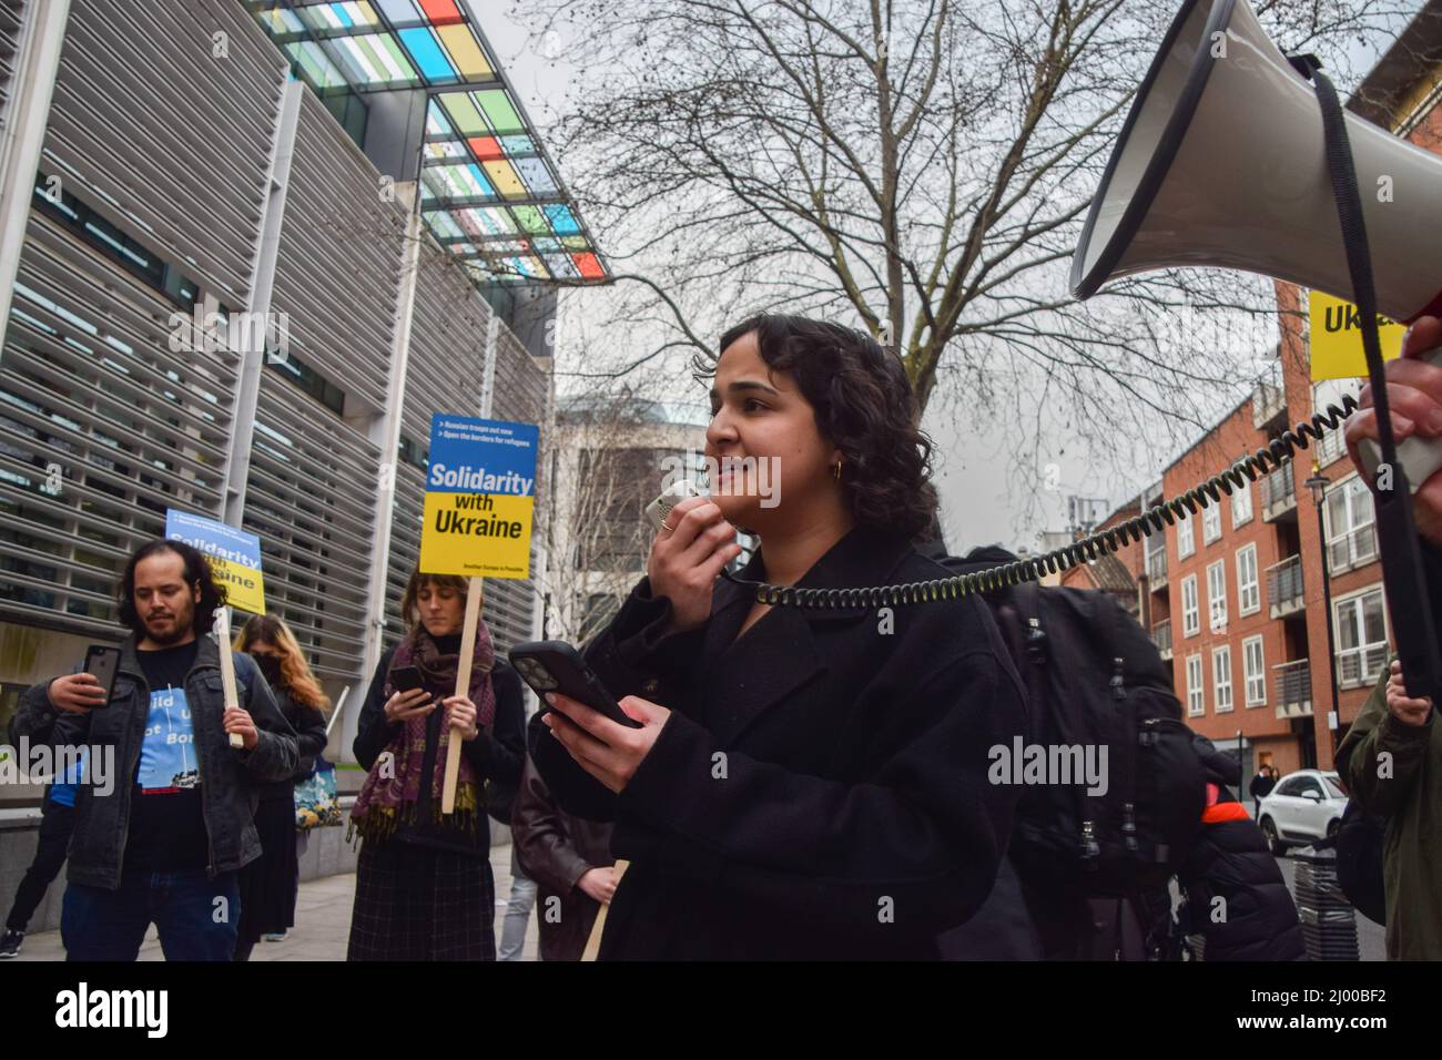
[[[234,0],[74,0],[40,169],[241,309],[284,81]]]

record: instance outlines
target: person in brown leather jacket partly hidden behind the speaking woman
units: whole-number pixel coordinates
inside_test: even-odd
[[[580,960],[596,914],[616,893],[611,826],[557,806],[526,757],[510,836],[522,868],[538,884],[541,959]]]

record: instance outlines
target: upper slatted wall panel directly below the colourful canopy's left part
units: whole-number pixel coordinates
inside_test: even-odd
[[[239,4],[235,4],[239,9]],[[273,307],[290,350],[379,412],[389,379],[405,215],[311,92],[301,97]]]

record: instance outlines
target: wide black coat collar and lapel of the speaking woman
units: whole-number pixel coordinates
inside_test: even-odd
[[[803,588],[885,586],[908,554],[906,539],[854,526],[796,584]],[[738,577],[766,580],[760,549]],[[767,710],[826,669],[813,637],[815,623],[855,622],[874,611],[870,607],[777,604],[737,640],[754,600],[754,588],[721,580],[702,642],[702,658],[709,663],[702,692],[708,704],[707,724],[721,747],[733,746]]]

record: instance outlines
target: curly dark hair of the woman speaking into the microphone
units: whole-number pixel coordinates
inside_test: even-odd
[[[841,483],[859,524],[936,535],[932,440],[901,361],[864,332],[802,316],[758,313],[721,336],[718,353],[698,353],[696,379],[715,376],[721,352],[756,332],[761,359],[789,372],[816,411],[822,437],[842,451]]]

